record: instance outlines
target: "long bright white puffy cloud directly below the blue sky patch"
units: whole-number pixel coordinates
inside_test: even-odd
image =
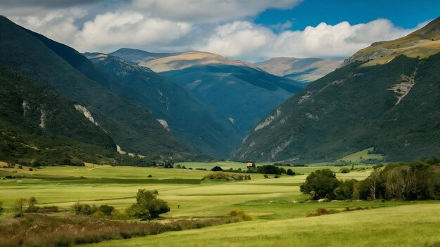
[[[302,31],[278,34],[247,21],[221,25],[216,30],[216,34],[203,48],[245,60],[280,56],[343,58],[375,41],[396,39],[414,31],[395,27],[392,22],[384,19],[358,25],[350,25],[349,22],[337,25],[321,23]]]

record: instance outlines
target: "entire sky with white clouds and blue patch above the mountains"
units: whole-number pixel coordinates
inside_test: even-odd
[[[439,15],[419,0],[0,0],[1,14],[76,48],[343,59]]]

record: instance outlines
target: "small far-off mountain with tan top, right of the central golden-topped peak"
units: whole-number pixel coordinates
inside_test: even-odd
[[[276,76],[311,82],[335,71],[341,62],[322,58],[271,58],[255,65]]]

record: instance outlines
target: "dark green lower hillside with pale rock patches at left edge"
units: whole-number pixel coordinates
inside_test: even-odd
[[[79,107],[0,65],[0,160],[70,165],[113,156],[115,142]]]

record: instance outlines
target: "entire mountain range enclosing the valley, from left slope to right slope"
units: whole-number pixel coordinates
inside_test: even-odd
[[[311,163],[365,150],[386,161],[440,156],[440,18],[343,63],[252,64],[131,48],[81,54],[4,17],[0,28],[1,160]]]

